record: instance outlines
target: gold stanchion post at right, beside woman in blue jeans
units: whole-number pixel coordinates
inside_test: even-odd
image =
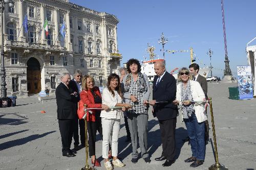
[[[215,125],[214,125],[214,113],[212,112],[211,98],[209,98],[209,103],[210,103],[211,126],[212,126],[212,132],[214,134],[214,151],[215,151],[215,158],[216,158],[215,164],[211,165],[209,167],[209,170],[228,170],[227,167],[225,167],[224,165],[221,165],[219,163],[217,142],[216,142],[216,133],[215,133]]]

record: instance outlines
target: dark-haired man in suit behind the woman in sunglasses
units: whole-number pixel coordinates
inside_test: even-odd
[[[204,91],[204,95],[205,95],[205,99],[208,99],[207,96],[207,81],[206,78],[199,75],[198,71],[199,71],[199,65],[197,63],[193,63],[189,65],[189,71],[190,71],[190,75],[193,77],[194,81],[199,82],[199,84],[201,85],[203,91]],[[209,123],[208,120],[205,120],[204,122],[204,129],[205,129],[205,144],[208,143],[209,140]],[[186,139],[185,139],[186,140]]]

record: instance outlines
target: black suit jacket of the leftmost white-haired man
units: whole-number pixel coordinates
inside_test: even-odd
[[[56,88],[57,118],[58,119],[76,119],[78,96],[71,95],[74,90],[60,83]]]

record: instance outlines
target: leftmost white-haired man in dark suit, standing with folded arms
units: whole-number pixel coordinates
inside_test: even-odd
[[[74,131],[75,120],[77,118],[77,102],[79,98],[77,93],[69,87],[70,75],[62,74],[60,84],[56,88],[57,118],[62,142],[62,156],[76,156],[71,150],[72,135]]]

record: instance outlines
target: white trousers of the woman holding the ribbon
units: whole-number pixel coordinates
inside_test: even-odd
[[[111,142],[112,156],[116,157],[118,152],[118,136],[120,130],[120,119],[101,118],[102,124],[102,158],[109,158],[109,143]]]

